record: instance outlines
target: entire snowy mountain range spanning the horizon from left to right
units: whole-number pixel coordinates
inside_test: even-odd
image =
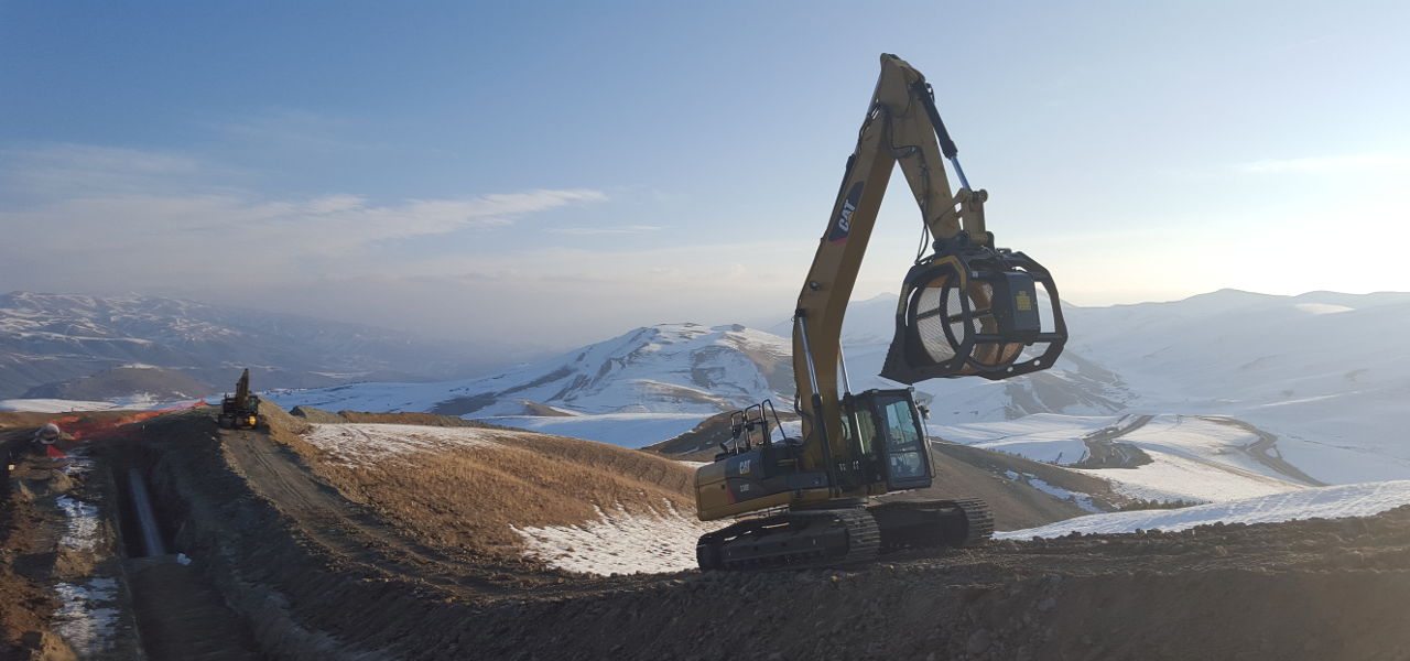
[[[52,306],[79,311],[52,314],[47,311]],[[286,407],[437,412],[632,447],[670,438],[711,414],[761,399],[788,409],[794,396],[787,321],[767,331],[658,324],[489,376],[413,383],[382,375],[393,368],[433,375],[447,369],[433,364],[451,354],[417,352],[419,347],[396,345],[386,334],[364,328],[298,326],[307,320],[186,302],[11,295],[0,297],[0,361],[14,362],[14,347],[24,342],[31,350],[44,342],[59,347],[31,351],[27,365],[80,365],[83,359],[151,365],[157,362],[134,361],[134,354],[235,347],[241,351],[220,355],[252,355],[248,362],[269,365],[271,373],[275,366],[302,365],[303,372],[295,373],[303,379],[288,379],[286,386],[360,381],[268,392],[281,382],[258,378],[259,389]],[[854,390],[895,388],[874,376],[891,340],[894,310],[890,295],[849,309],[843,345]],[[919,383],[916,399],[929,404],[935,428],[976,424],[981,427],[973,434],[976,443],[998,443],[1010,434],[1001,431],[1004,421],[1055,420],[1034,414],[1081,419],[1089,431],[1124,414],[1176,416],[1162,419],[1176,421],[1214,416],[1275,438],[1258,441],[1259,452],[1286,459],[1317,481],[1410,478],[1410,438],[1399,416],[1410,396],[1410,352],[1400,347],[1400,337],[1410,333],[1407,293],[1220,290],[1167,303],[1067,304],[1065,313],[1072,340],[1052,369],[1001,382]],[[251,324],[265,333],[245,330]],[[378,351],[389,345],[396,351]],[[70,347],[78,350],[65,354]],[[203,368],[183,372],[195,376],[207,369],[226,381],[224,371],[234,373],[224,358],[202,359]],[[317,366],[309,365],[317,359]],[[14,371],[6,365],[0,373],[13,378]],[[210,382],[217,389],[224,385]],[[1170,428],[1189,430],[1191,423]],[[1079,435],[1065,435],[1062,447],[1080,448]],[[1206,443],[1218,434],[1197,435]],[[1215,445],[1244,451],[1245,438],[1261,437],[1230,438]],[[1042,461],[1052,461],[1056,447],[1034,445],[1034,451],[1050,454]],[[1073,461],[1070,452],[1065,457]]]

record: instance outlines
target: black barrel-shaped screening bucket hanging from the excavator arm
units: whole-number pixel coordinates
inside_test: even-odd
[[[1066,341],[1048,269],[960,234],[936,242],[936,252],[907,273],[881,376],[901,383],[1007,379],[1052,366]]]

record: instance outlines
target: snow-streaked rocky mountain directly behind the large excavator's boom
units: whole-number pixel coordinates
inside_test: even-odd
[[[852,388],[897,388],[874,376],[890,342],[895,297],[857,302],[843,342]],[[878,314],[880,313],[880,314]],[[856,319],[859,321],[853,323]],[[444,383],[355,383],[274,393],[286,406],[424,410],[467,417],[578,414],[699,414],[763,399],[791,406],[792,341],[787,324],[767,333],[743,326],[658,324],[494,376]],[[884,330],[884,334],[883,334]],[[1114,413],[1132,399],[1120,376],[1079,352],[1026,379],[939,379],[916,399],[946,420],[1005,420],[1029,413]]]

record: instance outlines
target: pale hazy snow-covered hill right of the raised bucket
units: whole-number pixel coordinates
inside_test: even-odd
[[[1129,410],[1244,420],[1324,482],[1410,478],[1410,293],[1224,289],[1070,319],[1070,345],[1121,375]]]

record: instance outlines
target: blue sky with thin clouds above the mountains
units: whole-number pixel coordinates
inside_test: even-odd
[[[895,52],[1073,303],[1410,290],[1361,257],[1410,234],[1407,7],[0,1],[0,289],[537,347],[776,321]],[[859,296],[914,257],[891,190]]]

